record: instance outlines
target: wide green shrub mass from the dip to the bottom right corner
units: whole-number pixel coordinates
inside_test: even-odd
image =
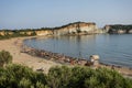
[[[107,68],[53,67],[47,78],[51,88],[132,88],[131,79]]]

